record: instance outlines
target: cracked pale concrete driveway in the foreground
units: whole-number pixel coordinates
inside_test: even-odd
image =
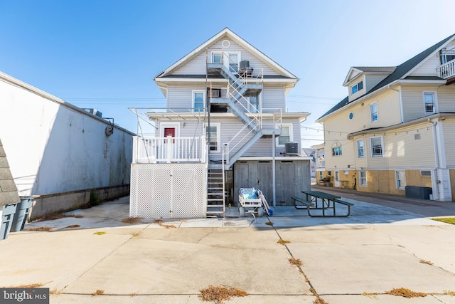
[[[50,303],[203,303],[209,285],[248,293],[228,303],[455,303],[454,225],[341,196],[355,204],[347,218],[294,207],[238,218],[232,208],[225,219],[132,224],[124,197],[10,233],[0,286],[43,284]],[[426,296],[387,294],[395,288]]]

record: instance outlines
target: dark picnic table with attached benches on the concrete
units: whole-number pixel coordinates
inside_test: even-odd
[[[341,200],[341,196],[328,194],[320,191],[302,191],[306,195],[306,198],[300,198],[297,196],[292,196],[291,199],[294,199],[294,207],[296,209],[306,209],[308,215],[311,217],[347,217],[350,215],[350,206],[354,204]],[[318,206],[318,199],[321,199],[321,207]],[[297,203],[303,204],[301,206]],[[348,207],[347,214],[336,214],[336,204],[342,204]],[[333,215],[326,214],[326,209],[333,209]],[[311,210],[322,210],[321,214],[311,214]]]

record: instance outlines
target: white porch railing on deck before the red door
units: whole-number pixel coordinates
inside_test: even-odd
[[[205,136],[133,137],[133,164],[206,161]]]

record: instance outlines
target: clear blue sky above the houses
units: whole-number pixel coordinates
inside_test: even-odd
[[[449,0],[0,0],[0,71],[137,132],[128,108],[165,105],[154,76],[228,27],[300,78],[288,110],[311,112],[309,147],[351,66],[403,63],[455,33],[453,11]]]

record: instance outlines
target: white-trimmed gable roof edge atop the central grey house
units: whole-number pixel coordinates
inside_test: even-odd
[[[159,73],[158,75],[156,75],[155,78],[164,77],[164,76],[170,74],[173,70],[176,70],[177,68],[181,67],[181,65],[186,64],[192,58],[198,56],[201,52],[205,51],[205,48],[210,47],[215,42],[219,41],[221,38],[224,38],[224,37],[231,38],[233,41],[238,43],[240,46],[245,48],[247,51],[250,51],[250,53],[252,53],[253,55],[262,59],[262,61],[267,63],[271,68],[273,68],[274,70],[277,70],[277,72],[281,73],[282,75],[287,76],[289,78],[293,78],[295,80],[298,80],[298,78],[295,75],[293,75],[292,73],[290,73],[289,70],[286,70],[285,68],[283,68],[281,65],[279,65],[278,63],[273,61],[271,58],[269,58],[264,53],[259,51],[257,48],[252,46],[250,43],[245,41],[243,38],[238,36],[236,33],[231,31],[229,28],[224,28],[222,31],[217,33],[215,36],[208,39],[208,41],[205,41],[200,46],[195,48],[193,51],[186,54],[186,56],[183,56],[183,58],[181,58],[179,61],[177,61],[176,63],[173,63],[173,65],[166,68],[166,70],[164,70],[161,73]]]

